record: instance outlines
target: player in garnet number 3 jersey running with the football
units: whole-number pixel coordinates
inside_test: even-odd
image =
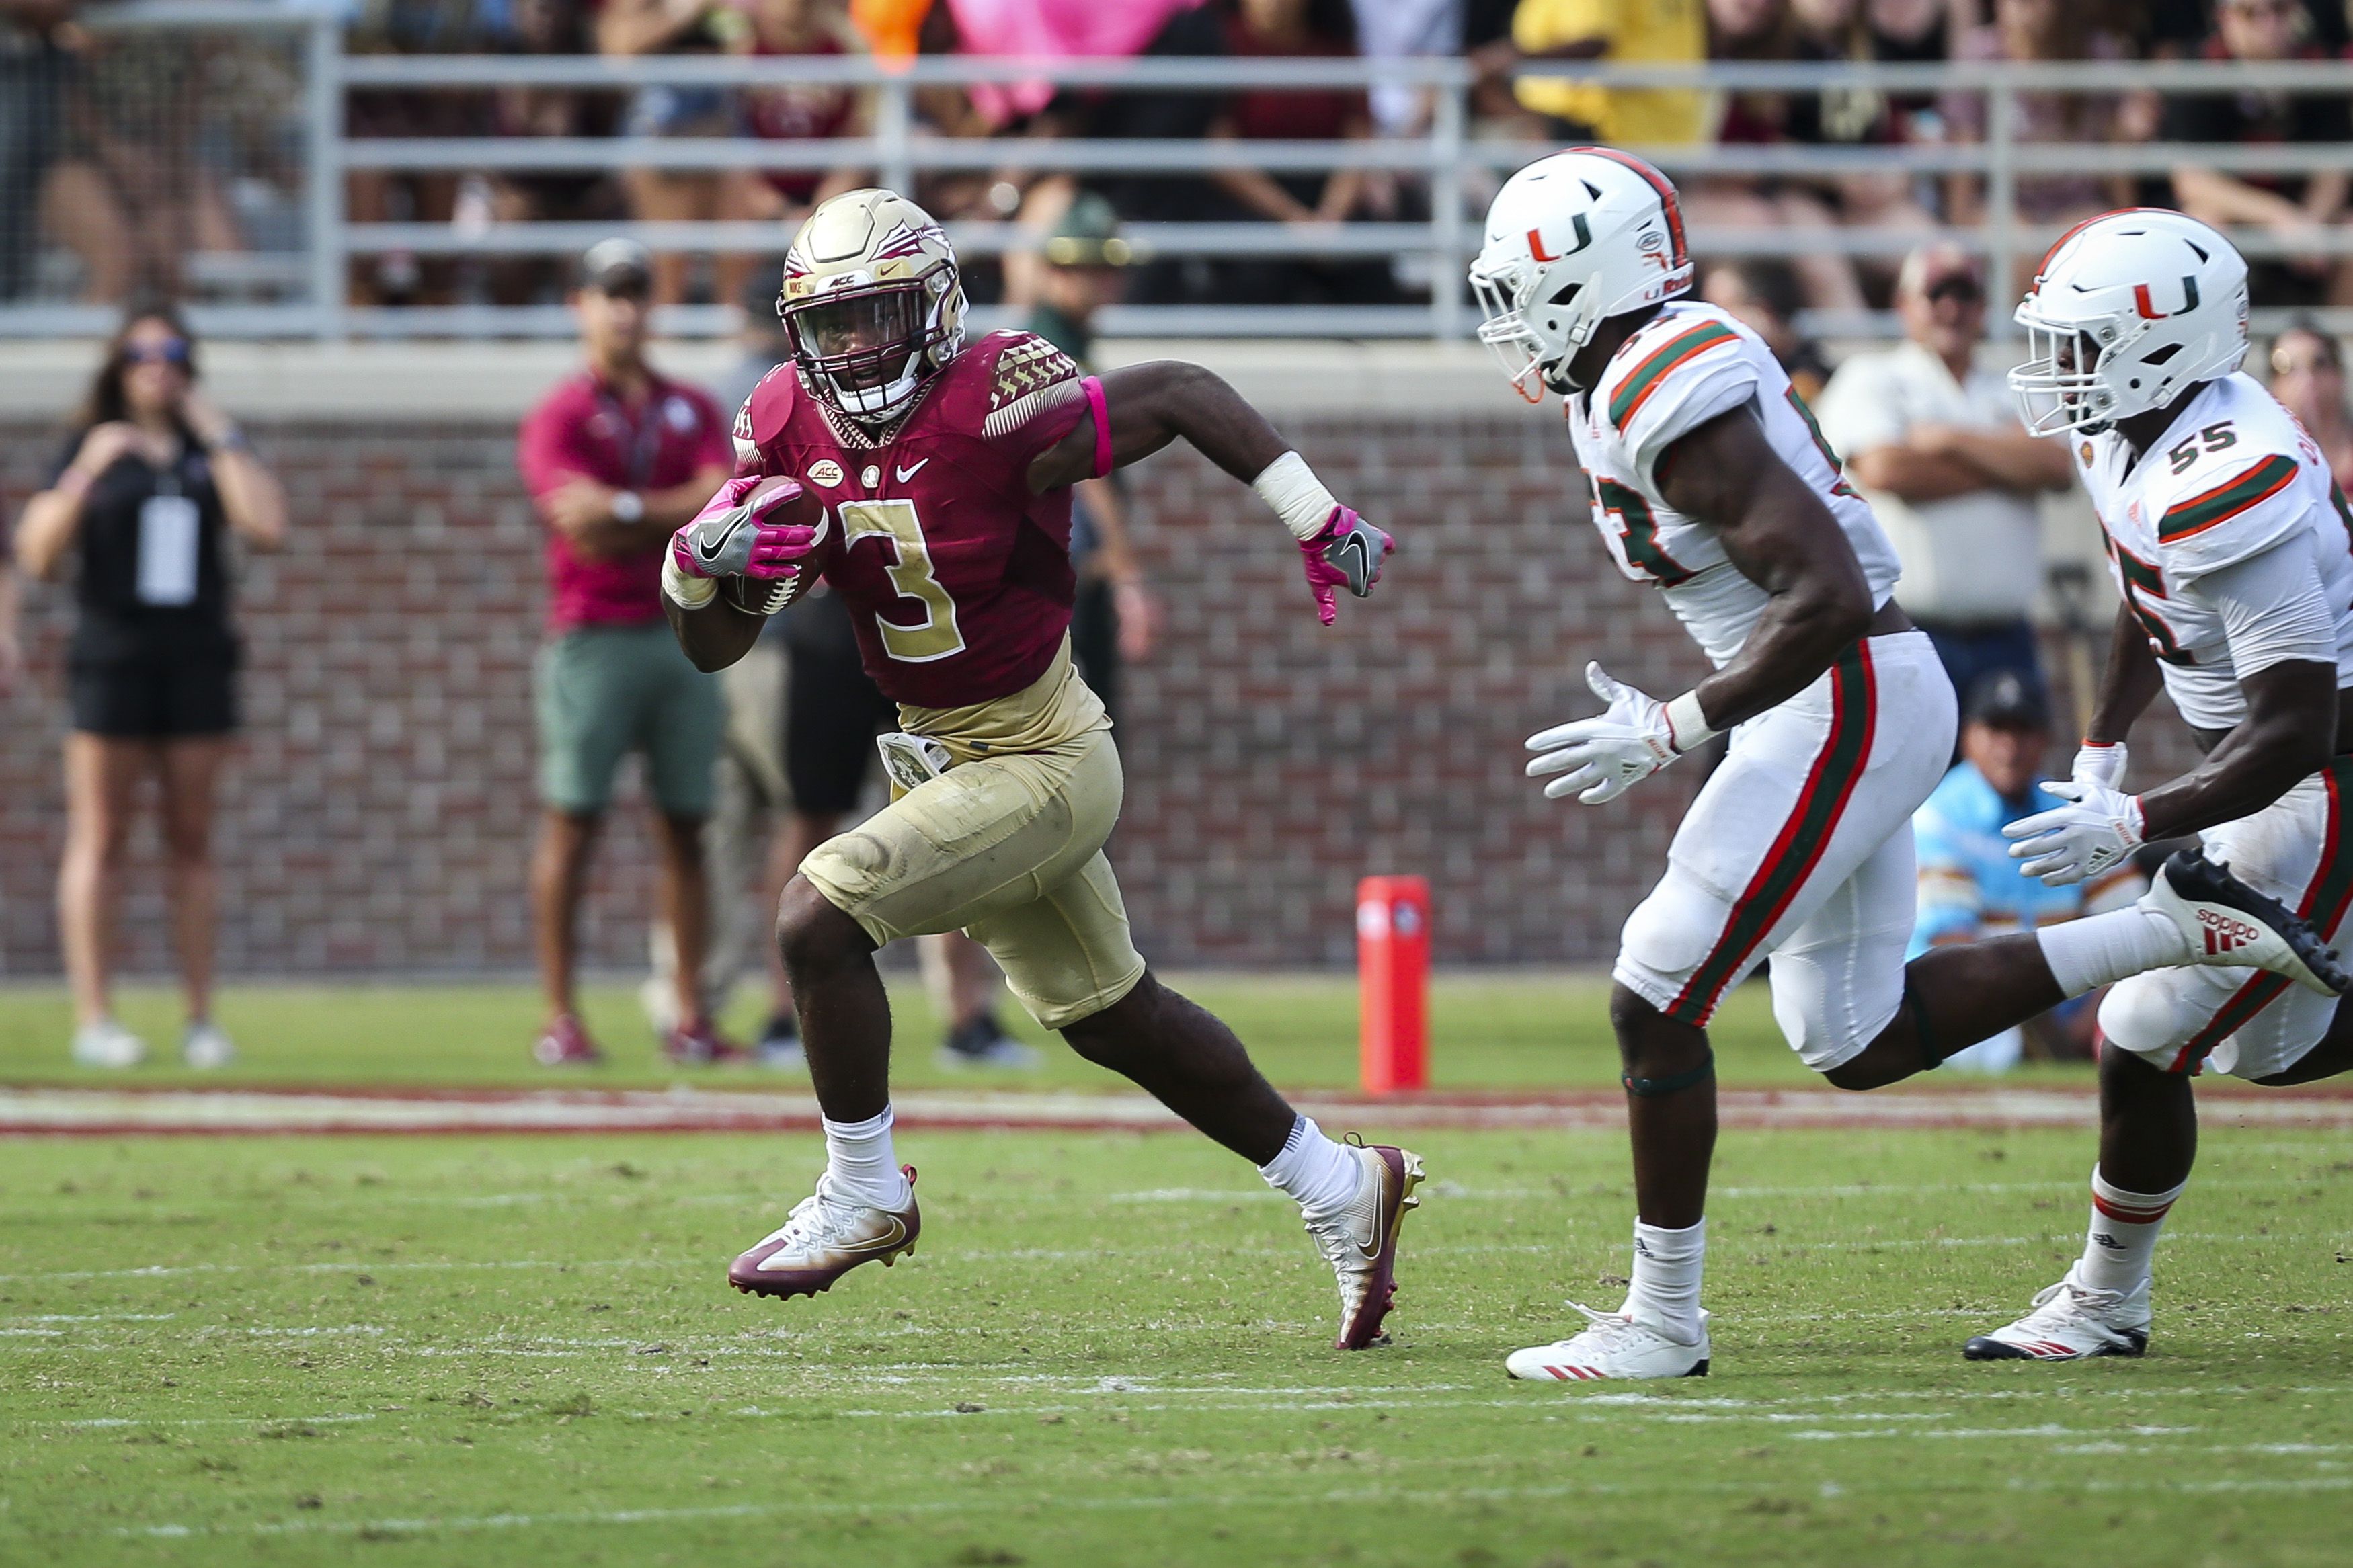
[[[915,1171],[892,1154],[889,1004],[873,954],[962,929],[1080,1056],[1125,1072],[1299,1201],[1339,1276],[1341,1349],[1372,1345],[1421,1161],[1320,1133],[1226,1025],[1136,954],[1104,860],[1120,755],[1071,668],[1068,487],[1188,440],[1289,527],[1325,623],[1337,588],[1362,597],[1379,581],[1388,536],[1195,364],[1096,378],[1026,331],[965,343],[955,252],[889,190],[852,190],[809,214],[776,310],[793,362],[736,418],[739,477],[675,538],[671,623],[713,670],[821,574],[856,616],[866,668],[906,729],[882,738],[892,804],[819,844],[784,891],[776,940],[824,1110],[826,1171],[727,1279],[809,1295],[915,1246]]]

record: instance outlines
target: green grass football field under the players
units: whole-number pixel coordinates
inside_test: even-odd
[[[1346,987],[1195,990],[1351,1079]],[[1449,983],[1440,1079],[1607,1084],[1593,1001]],[[1758,1001],[1725,1077],[1795,1081]],[[666,1081],[624,1006],[607,1079]],[[541,1081],[520,992],[224,1013],[247,1081]],[[0,1079],[71,1079],[59,1020],[0,994]],[[1727,1133],[1715,1375],[1572,1389],[1501,1354],[1614,1305],[1624,1138],[1409,1143],[1355,1356],[1292,1211],[1186,1135],[911,1133],[922,1251],[791,1305],[722,1269],[814,1138],[0,1143],[0,1563],[2346,1561],[2339,1133],[2214,1128],[2148,1359],[2078,1368],[1958,1345],[2073,1255],[2085,1133]]]

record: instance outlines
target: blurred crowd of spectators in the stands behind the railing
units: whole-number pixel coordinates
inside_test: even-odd
[[[106,33],[78,24],[85,0],[0,0],[0,301],[68,292],[118,301],[186,294],[191,256],[292,247],[299,190],[296,61],[214,38]],[[1473,134],[1489,141],[1607,141],[1904,148],[1986,136],[1979,92],[1701,92],[1600,89],[1527,75],[1532,61],[2127,61],[2341,59],[2353,42],[2344,0],[353,0],[346,47],[360,54],[744,54],[906,59],[913,54],[1106,56],[1464,56],[1478,66]],[[1071,197],[1052,141],[1099,139],[1377,139],[1414,136],[1433,101],[1407,87],[1365,92],[1108,92],[1033,85],[927,87],[918,134],[995,136],[1005,162],[925,176],[911,193],[944,219],[1052,223]],[[873,106],[847,87],[353,89],[351,136],[856,136]],[[273,115],[278,115],[273,120]],[[2346,94],[2017,94],[2031,143],[2334,143],[2353,141]],[[868,169],[534,169],[355,172],[355,221],[741,219],[791,221]],[[1426,216],[1431,193],[1381,169],[1207,176],[1113,174],[1094,181],[1127,221],[1266,221],[1318,228]],[[1485,207],[1478,179],[1468,207]],[[1974,174],[1835,179],[1715,174],[1685,181],[1701,228],[1852,226],[1899,235],[1974,223]],[[2071,221],[2129,202],[2268,230],[2294,242],[2341,228],[2341,172],[2026,174],[2028,223]],[[1805,306],[1885,303],[1887,266],[1831,247],[1791,261],[1765,289]],[[760,256],[656,256],[656,303],[732,303]],[[216,268],[219,270],[219,268]],[[1774,263],[1762,270],[1779,273]],[[226,268],[228,277],[252,277]],[[47,280],[47,282],[45,282]],[[527,256],[391,252],[353,268],[360,303],[553,301],[565,268]],[[974,268],[976,301],[1002,284]],[[1165,259],[1139,268],[1136,301],[1426,299],[1412,261]],[[2259,306],[2353,303],[2353,259],[2289,252],[2259,261]]]

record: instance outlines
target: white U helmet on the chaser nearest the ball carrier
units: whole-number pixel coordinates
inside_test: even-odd
[[[1595,327],[1692,289],[1675,186],[1612,148],[1539,158],[1487,207],[1471,287],[1487,315],[1478,341],[1520,397],[1574,393],[1569,360]]]

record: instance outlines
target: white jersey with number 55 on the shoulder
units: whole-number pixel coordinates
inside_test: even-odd
[[[2247,374],[2205,383],[2134,458],[2115,430],[2075,437],[2075,468],[2106,534],[2108,571],[2195,729],[2231,729],[2247,698],[2221,611],[2200,578],[2313,531],[2337,609],[2337,684],[2353,686],[2353,512],[2297,416]]]

